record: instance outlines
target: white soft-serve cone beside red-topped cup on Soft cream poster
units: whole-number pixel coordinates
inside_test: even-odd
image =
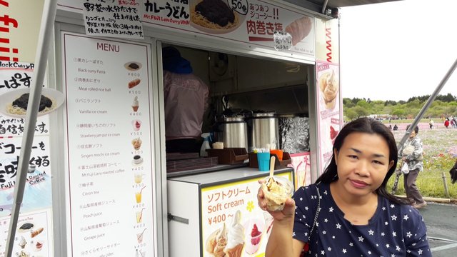
[[[236,211],[229,226],[227,245],[224,248],[226,257],[240,257],[244,247],[244,227],[241,225],[241,211]]]

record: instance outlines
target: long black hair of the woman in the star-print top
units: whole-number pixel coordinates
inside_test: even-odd
[[[351,121],[350,123],[346,124],[346,126],[343,126],[343,129],[341,129],[340,133],[338,133],[338,136],[336,136],[335,143],[333,143],[333,150],[336,149],[336,151],[340,151],[340,148],[341,146],[343,146],[344,139],[346,138],[346,136],[355,132],[376,134],[378,136],[382,136],[384,140],[386,140],[389,151],[388,161],[389,163],[393,161],[393,166],[387,171],[383,183],[381,183],[381,186],[379,186],[379,188],[377,188],[375,191],[378,195],[384,196],[388,198],[388,200],[393,201],[394,203],[408,203],[408,201],[393,196],[391,193],[388,193],[386,189],[387,181],[389,178],[391,178],[398,162],[398,150],[396,146],[396,141],[395,138],[393,138],[393,134],[391,133],[391,131],[384,124],[382,124],[379,121],[375,121],[374,119],[356,119],[355,121]],[[335,152],[333,151],[330,163],[326,167],[325,171],[323,171],[322,175],[316,180],[316,183],[331,183],[333,181],[338,180],[335,158]]]

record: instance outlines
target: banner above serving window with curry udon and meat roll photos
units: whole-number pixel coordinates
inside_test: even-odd
[[[283,31],[291,43],[288,52],[311,58],[316,55],[314,18],[277,1],[142,0],[140,3],[143,26],[199,34],[272,51],[283,50],[278,49],[274,41],[275,32]],[[79,1],[60,0],[59,7],[82,12]]]

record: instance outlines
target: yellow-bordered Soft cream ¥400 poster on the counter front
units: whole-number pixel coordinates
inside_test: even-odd
[[[268,176],[268,174],[266,174]],[[292,173],[280,173],[292,181]],[[258,178],[201,189],[203,256],[263,256],[273,217],[258,207]]]

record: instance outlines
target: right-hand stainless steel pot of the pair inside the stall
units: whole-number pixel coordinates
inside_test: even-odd
[[[279,148],[279,125],[275,113],[252,114],[249,119],[248,151],[254,148],[266,148],[267,144],[275,144]]]

